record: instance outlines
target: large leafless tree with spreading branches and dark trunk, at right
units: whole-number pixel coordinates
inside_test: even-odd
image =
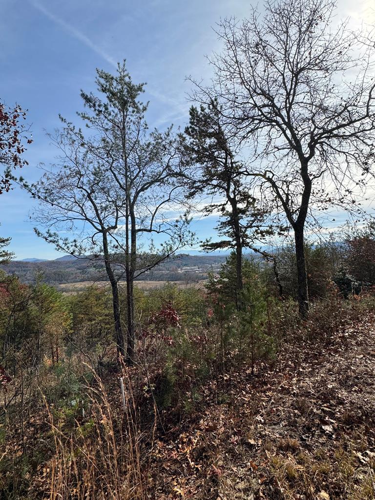
[[[332,25],[335,8],[333,0],[268,0],[263,16],[253,9],[242,22],[223,20],[212,85],[198,84],[194,95],[218,96],[223,117],[254,147],[248,174],[272,193],[294,232],[302,317],[306,219],[331,203],[355,205],[374,157],[371,47],[347,21]]]

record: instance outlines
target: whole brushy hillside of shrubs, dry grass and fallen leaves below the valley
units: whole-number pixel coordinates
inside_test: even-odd
[[[133,366],[108,288],[3,275],[1,498],[373,499],[375,261],[358,275],[352,256],[368,241],[307,245],[304,320],[287,245],[281,297],[244,259],[241,310],[234,254],[203,288],[136,289]]]

